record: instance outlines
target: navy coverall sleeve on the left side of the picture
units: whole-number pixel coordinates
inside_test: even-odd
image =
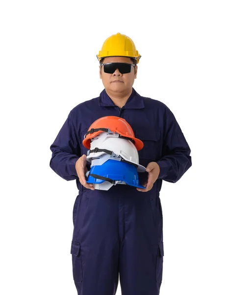
[[[52,151],[50,167],[54,172],[65,180],[79,178],[75,164],[80,158],[81,152],[76,130],[71,119],[71,112],[50,149]]]

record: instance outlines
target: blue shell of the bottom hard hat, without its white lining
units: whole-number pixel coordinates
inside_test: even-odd
[[[134,187],[145,188],[143,185],[139,185],[139,178],[134,165],[120,162],[116,160],[107,160],[102,165],[92,166],[90,168],[87,183],[103,183],[105,180],[92,177],[91,174],[99,175],[102,177],[110,178],[111,180],[122,180],[128,185]]]

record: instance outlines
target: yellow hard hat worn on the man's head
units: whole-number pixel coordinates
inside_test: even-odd
[[[117,33],[106,39],[102,45],[101,51],[99,51],[96,57],[99,61],[107,57],[128,57],[136,59],[136,63],[138,63],[141,55],[139,55],[138,51],[135,49],[134,42],[131,38]]]

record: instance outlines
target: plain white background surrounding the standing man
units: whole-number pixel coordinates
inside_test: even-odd
[[[50,168],[50,145],[104,89],[96,54],[117,32],[142,56],[134,89],[171,109],[191,148],[192,167],[162,183],[160,294],[241,294],[239,4],[1,1],[0,294],[77,295],[78,190]]]

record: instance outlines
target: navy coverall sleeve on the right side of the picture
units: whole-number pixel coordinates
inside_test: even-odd
[[[157,161],[161,178],[168,182],[177,182],[192,165],[190,148],[184,134],[169,110],[164,127],[162,158]]]

